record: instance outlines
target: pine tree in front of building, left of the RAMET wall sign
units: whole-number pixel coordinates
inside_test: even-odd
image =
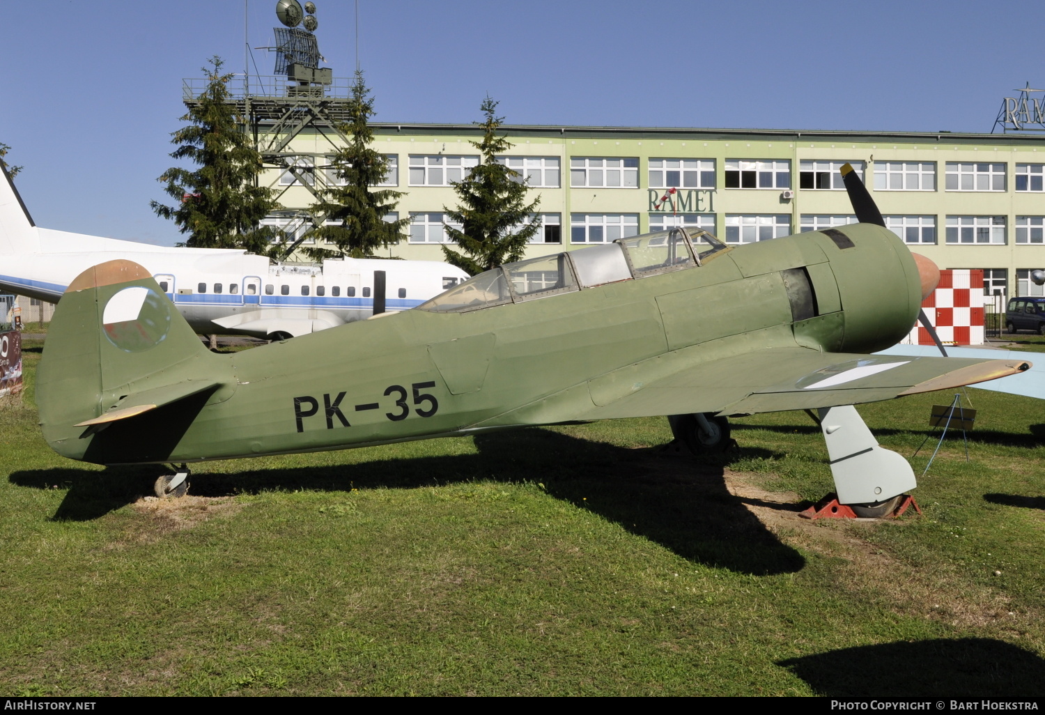
[[[518,171],[497,163],[497,155],[512,144],[496,133],[504,123],[504,117],[495,114],[497,102],[490,97],[483,101],[480,110],[485,119],[474,122],[483,128],[483,140],[469,142],[482,153],[482,162],[454,184],[458,210],[444,207],[450,221],[461,226],[446,226],[446,233],[464,252],[462,255],[444,246],[446,262],[471,275],[519,260],[540,225],[534,215],[540,198],[527,204],[528,187]]]

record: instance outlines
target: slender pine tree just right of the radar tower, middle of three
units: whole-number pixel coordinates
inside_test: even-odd
[[[345,185],[325,189],[322,200],[310,209],[314,214],[324,216],[328,224],[336,222],[310,232],[333,244],[336,250],[305,249],[310,258],[373,255],[379,248],[398,244],[403,238],[403,228],[410,223],[409,218],[385,221],[385,216],[395,210],[402,191],[371,190],[385,180],[389,169],[385,157],[371,147],[374,133],[368,121],[374,115],[374,100],[369,95],[363,72],[356,70],[348,105],[349,120],[342,126],[351,139],[332,158],[332,170]]]

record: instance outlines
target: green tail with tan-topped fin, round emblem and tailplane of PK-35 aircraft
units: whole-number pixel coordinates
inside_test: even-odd
[[[235,386],[231,363],[203,346],[149,273],[111,260],[77,276],[59,302],[37,406],[63,456],[162,462],[203,407]]]

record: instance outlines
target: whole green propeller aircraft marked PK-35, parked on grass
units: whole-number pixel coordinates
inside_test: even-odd
[[[728,416],[818,410],[839,501],[880,505],[913,472],[846,406],[1029,364],[868,354],[910,330],[939,272],[843,174],[859,224],[737,247],[682,228],[622,238],[227,355],[143,268],[101,263],[55,310],[43,433],[72,459],[188,463],[670,415],[700,449],[727,440]],[[184,494],[187,477],[161,476],[157,493]]]

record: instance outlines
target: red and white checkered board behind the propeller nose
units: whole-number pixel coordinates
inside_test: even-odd
[[[983,271],[952,269],[939,272],[939,285],[922,308],[945,345],[983,344]],[[933,345],[929,331],[915,324],[905,345]]]

